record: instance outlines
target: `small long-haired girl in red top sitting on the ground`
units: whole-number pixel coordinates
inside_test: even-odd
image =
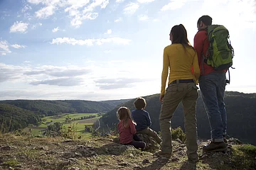
[[[142,142],[136,135],[136,129],[134,125],[136,123],[134,123],[134,121],[132,120],[129,108],[119,108],[117,111],[117,118],[119,119],[119,142],[123,145],[133,145],[137,149],[145,149],[146,143]]]

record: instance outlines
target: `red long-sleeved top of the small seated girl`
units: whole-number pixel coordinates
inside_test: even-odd
[[[124,128],[124,120],[118,123],[119,141],[121,144],[129,144],[132,142],[133,135],[136,133],[135,125],[132,123],[132,119],[128,120],[128,127]]]

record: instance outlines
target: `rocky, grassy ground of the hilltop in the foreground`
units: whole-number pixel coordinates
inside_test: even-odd
[[[188,164],[186,145],[173,141],[170,159],[156,157],[159,146],[141,151],[113,142],[114,137],[66,140],[60,137],[0,135],[0,169],[256,169],[256,147],[228,141],[228,152],[206,154],[199,145],[200,161]]]

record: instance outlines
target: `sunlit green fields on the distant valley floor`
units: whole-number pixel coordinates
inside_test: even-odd
[[[42,130],[45,130],[47,128],[47,125],[50,125],[51,123],[60,122],[63,123],[63,126],[65,128],[68,128],[70,125],[75,125],[75,128],[77,132],[83,133],[83,135],[90,136],[89,134],[85,134],[85,125],[93,125],[95,122],[98,121],[101,116],[98,116],[96,118],[90,118],[90,119],[84,119],[84,120],[74,120],[70,123],[65,123],[66,118],[81,118],[89,115],[97,115],[97,113],[75,113],[75,114],[69,114],[69,113],[63,113],[61,115],[53,115],[53,116],[46,116],[43,118],[43,122],[38,127],[32,128],[32,134],[33,135],[40,135]]]

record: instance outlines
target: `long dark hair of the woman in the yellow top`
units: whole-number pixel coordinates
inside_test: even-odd
[[[170,35],[172,35],[172,44],[181,44],[183,47],[192,47],[188,41],[186,28],[182,24],[171,28]]]

